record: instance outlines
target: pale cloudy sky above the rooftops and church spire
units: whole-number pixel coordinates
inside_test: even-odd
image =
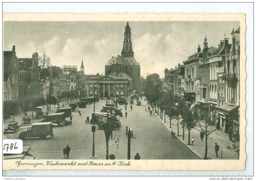
[[[231,38],[237,21],[131,21],[134,57],[141,75],[174,68],[203,47],[218,47],[224,34]],[[79,22],[4,22],[3,50],[16,46],[17,57],[31,57],[37,51],[50,57],[52,66],[76,65],[84,61],[86,74],[103,73],[112,56],[121,55],[124,21]],[[229,41],[231,43],[231,41]]]

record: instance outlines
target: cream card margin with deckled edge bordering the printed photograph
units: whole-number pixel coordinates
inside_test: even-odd
[[[131,166],[22,166],[15,164],[19,160],[3,160],[3,170],[244,170],[246,162],[246,17],[245,14],[196,14],[196,13],[161,13],[161,14],[3,14],[3,21],[240,21],[240,159],[239,160],[130,160]],[[221,27],[220,27],[221,28]],[[230,27],[230,32],[233,27]],[[234,27],[237,28],[237,27]],[[214,33],[214,32],[212,32]],[[186,55],[184,55],[185,57]],[[49,160],[20,160],[27,163],[38,163]],[[54,162],[57,160],[53,160]],[[59,162],[113,163],[127,160],[58,160]]]

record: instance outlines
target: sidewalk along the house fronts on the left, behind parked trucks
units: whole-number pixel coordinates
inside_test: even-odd
[[[76,102],[76,101],[78,101],[78,100],[79,100],[79,99],[77,99],[77,100],[74,99],[74,101],[67,102],[67,104],[65,104],[65,101],[64,101],[63,103],[64,103],[64,105],[69,105],[70,103]],[[47,110],[46,110],[46,109],[47,109],[47,104],[46,104],[46,105],[43,105],[43,106],[44,106],[44,115],[46,115],[46,112],[49,112],[49,111],[51,111],[51,110],[54,110],[54,109],[57,109],[57,108],[58,108],[57,105],[53,105],[53,104],[50,105],[50,104],[49,104],[49,107],[51,107],[51,109],[49,109],[49,110],[47,111]],[[54,106],[55,106],[55,107],[54,107]],[[62,102],[60,102],[60,107],[62,107]],[[34,122],[38,122],[38,121],[36,121],[36,119],[35,119],[35,117],[36,117],[36,112],[35,112],[35,111],[33,111],[33,119],[32,119],[32,111],[27,111],[27,114],[28,114],[28,116],[31,118],[30,124],[32,124],[32,123],[34,123]],[[23,117],[23,113],[14,116],[14,121],[18,121],[19,127],[24,124],[24,122],[22,121],[22,117]],[[3,132],[4,132],[4,129],[8,126],[8,123],[9,123],[10,121],[13,121],[13,118],[9,118],[9,119],[3,121]]]

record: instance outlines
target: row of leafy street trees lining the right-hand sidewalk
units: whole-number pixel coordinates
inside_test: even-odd
[[[199,131],[200,135],[205,137],[204,159],[207,159],[208,136],[212,132],[220,129],[215,108],[204,108],[203,111],[205,117],[201,118],[200,115],[197,114],[197,111],[192,111],[190,109],[190,105],[185,99],[175,96],[171,91],[164,92],[163,83],[156,73],[146,77],[143,90],[145,91],[147,101],[149,101],[153,110],[155,109],[155,113],[158,114],[156,107],[157,109],[159,108],[161,120],[163,120],[164,113],[164,122],[167,115],[170,120],[170,128],[172,128],[172,125],[177,125],[177,136],[180,136],[179,126],[183,128],[183,140],[185,129],[188,131],[188,145],[190,145],[191,140],[190,131],[193,129]],[[235,145],[233,145],[233,149],[237,151],[239,158],[238,139],[233,138],[232,140]]]

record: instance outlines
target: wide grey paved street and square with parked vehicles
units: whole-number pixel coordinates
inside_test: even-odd
[[[110,100],[111,102],[111,100]],[[150,116],[148,110],[145,112],[144,105],[148,106],[142,99],[142,106],[136,106],[134,101],[133,109],[127,105],[128,116],[120,118],[122,127],[120,130],[113,131],[113,139],[109,141],[109,154],[114,154],[116,159],[127,159],[127,135],[125,126],[133,129],[131,139],[131,159],[134,159],[138,152],[141,159],[199,159],[177,138],[171,138],[170,131],[155,117]],[[95,103],[95,111],[99,112],[105,105],[105,100]],[[119,105],[125,113],[125,106]],[[68,144],[71,148],[70,159],[90,159],[92,154],[92,132],[91,124],[85,124],[85,119],[93,112],[93,104],[86,108],[80,108],[81,117],[78,112],[72,112],[73,120],[70,126],[54,127],[54,137],[47,136],[46,139],[27,138],[23,141],[24,145],[30,145],[34,151],[36,159],[64,159],[62,149]],[[55,111],[50,111],[55,112]],[[66,118],[69,119],[69,118]],[[19,131],[14,134],[5,134],[8,139],[17,139]],[[116,138],[119,139],[119,148],[115,144]],[[103,130],[96,129],[95,132],[95,155],[97,159],[105,159],[106,142]]]

